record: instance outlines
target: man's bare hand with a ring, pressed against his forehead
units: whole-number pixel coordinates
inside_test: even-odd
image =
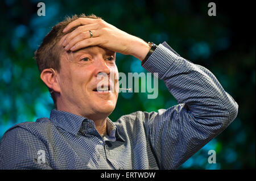
[[[102,19],[79,18],[69,23],[63,33],[67,33],[60,44],[65,50],[76,51],[86,47],[104,47],[122,54],[138,54],[141,47],[148,44],[138,37],[129,35]]]

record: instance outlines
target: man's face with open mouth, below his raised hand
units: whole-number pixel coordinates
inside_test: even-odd
[[[108,116],[115,108],[118,97],[118,79],[110,79],[110,74],[118,77],[115,52],[101,47],[88,47],[76,52],[64,52],[60,58],[61,103],[65,111],[89,119]],[[98,75],[108,75],[105,85],[114,85],[114,91],[97,91],[102,80]],[[105,77],[106,78],[106,77]],[[108,87],[109,88],[109,87]],[[99,89],[98,89],[99,90]]]

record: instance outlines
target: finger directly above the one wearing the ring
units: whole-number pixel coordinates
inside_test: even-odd
[[[66,46],[70,40],[78,36],[80,33],[86,32],[89,30],[97,30],[97,28],[98,28],[97,24],[87,24],[85,26],[77,27],[74,31],[69,33],[69,35],[65,38],[65,40],[62,43],[63,47]]]

